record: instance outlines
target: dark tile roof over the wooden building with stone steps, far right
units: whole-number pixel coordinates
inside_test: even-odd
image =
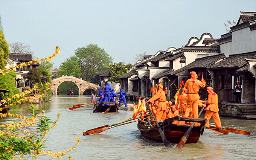
[[[255,56],[255,54],[256,52],[254,51],[248,53],[229,55],[228,58],[224,59],[221,62],[213,64],[212,66],[209,66],[208,69],[238,69],[247,64],[247,61],[245,61],[245,58],[247,58],[247,56]]]

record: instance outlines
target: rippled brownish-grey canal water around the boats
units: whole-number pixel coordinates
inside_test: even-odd
[[[83,136],[86,130],[103,125],[114,124],[132,117],[133,109],[120,107],[118,113],[92,113],[93,105],[69,110],[74,104],[90,102],[90,96],[58,95],[51,102],[38,104],[46,111],[46,116],[55,120],[57,113],[61,114],[56,128],[47,133],[46,145],[53,152],[69,149],[76,144],[76,137],[81,143],[62,159],[68,160],[71,155],[74,160],[254,160],[256,159],[256,120],[221,117],[222,126],[250,131],[250,136],[229,133],[219,134],[204,130],[198,143],[185,144],[184,148],[176,149],[172,143],[166,148],[163,143],[153,142],[143,138],[137,129],[137,122],[111,128],[99,134]],[[130,102],[131,103],[131,102]],[[12,114],[28,116],[28,104],[16,105],[9,111]],[[204,114],[204,113],[203,113]],[[3,118],[0,123],[11,122],[13,118]],[[210,124],[214,125],[213,120]],[[27,157],[31,159],[31,157]],[[41,155],[39,160],[55,159]]]

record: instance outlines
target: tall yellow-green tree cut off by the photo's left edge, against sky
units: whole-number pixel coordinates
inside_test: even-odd
[[[9,45],[5,40],[2,30],[0,30],[0,69],[5,69],[7,59],[10,55]]]

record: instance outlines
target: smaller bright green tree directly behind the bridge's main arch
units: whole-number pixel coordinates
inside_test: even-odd
[[[74,76],[78,78],[82,75],[81,68],[79,67],[79,61],[75,56],[71,56],[66,61],[61,62],[57,77],[61,76]]]

